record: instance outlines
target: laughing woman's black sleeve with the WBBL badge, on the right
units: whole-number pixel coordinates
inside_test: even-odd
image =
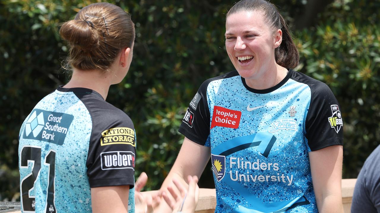
[[[310,106],[306,117],[306,139],[312,151],[343,145],[343,119],[331,89],[317,80],[309,81]]]

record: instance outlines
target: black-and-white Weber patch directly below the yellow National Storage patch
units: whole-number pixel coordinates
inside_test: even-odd
[[[133,169],[135,171],[135,153],[102,152],[100,153],[101,169]]]

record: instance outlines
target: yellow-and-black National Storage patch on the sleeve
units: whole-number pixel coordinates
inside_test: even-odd
[[[128,127],[116,127],[105,130],[101,133],[100,145],[128,144],[136,146],[135,131]]]

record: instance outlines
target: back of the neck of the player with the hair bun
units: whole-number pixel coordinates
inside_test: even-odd
[[[104,74],[102,70],[73,70],[70,81],[63,86],[64,88],[87,88],[97,91],[106,100],[111,78]]]

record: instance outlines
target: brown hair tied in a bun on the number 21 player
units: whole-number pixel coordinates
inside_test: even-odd
[[[59,31],[68,42],[68,63],[81,70],[108,70],[123,48],[132,47],[135,25],[128,13],[110,3],[82,8]]]

